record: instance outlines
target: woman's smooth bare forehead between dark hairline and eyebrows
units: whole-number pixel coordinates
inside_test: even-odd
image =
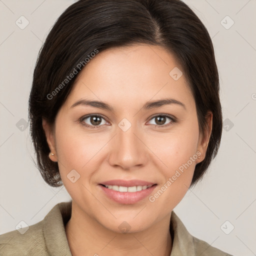
[[[172,71],[174,70],[174,71]],[[69,107],[83,97],[138,107],[139,102],[171,97],[193,104],[182,68],[164,48],[148,44],[113,47],[97,53],[80,71],[67,97]]]

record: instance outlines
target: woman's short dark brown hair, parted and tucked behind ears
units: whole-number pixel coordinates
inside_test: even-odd
[[[66,76],[74,69],[79,73],[77,64],[85,66],[84,59],[95,49],[134,43],[162,46],[179,62],[195,100],[200,132],[207,128],[207,111],[213,113],[206,155],[196,164],[191,185],[202,178],[216,156],[222,131],[218,71],[211,38],[196,14],[180,0],[79,0],[58,17],[48,33],[38,54],[29,96],[37,167],[50,186],[63,183],[57,162],[48,157],[42,117],[54,124],[75,81],[75,77],[65,80]]]

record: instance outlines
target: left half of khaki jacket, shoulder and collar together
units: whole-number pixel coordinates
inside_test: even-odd
[[[39,222],[0,235],[1,256],[69,255],[64,224],[71,201],[56,204]]]

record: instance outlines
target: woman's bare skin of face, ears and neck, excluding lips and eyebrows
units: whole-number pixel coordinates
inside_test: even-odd
[[[188,190],[196,163],[203,160],[212,125],[210,113],[208,129],[199,133],[195,101],[184,75],[176,81],[169,75],[174,67],[182,70],[173,55],[160,46],[135,44],[104,50],[79,73],[54,125],[43,118],[54,153],[50,159],[58,162],[72,198],[71,218],[65,226],[72,255],[170,255],[171,210]],[[81,98],[107,102],[113,111],[71,107]],[[185,108],[165,104],[141,109],[145,102],[163,98],[181,101]],[[79,122],[87,114],[104,118],[99,125],[90,118]],[[155,118],[160,114],[177,121],[166,117],[161,124]],[[118,126],[123,118],[131,123],[125,132]],[[163,127],[165,124],[171,125]],[[198,151],[200,159],[192,161],[153,202],[146,197],[133,204],[117,203],[98,185],[110,179],[142,179],[157,183],[153,195]],[[74,183],[67,178],[72,169],[80,175]],[[127,233],[118,228],[123,221],[130,225]]]

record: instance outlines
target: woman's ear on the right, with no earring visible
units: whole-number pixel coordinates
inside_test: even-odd
[[[205,120],[206,120],[206,127],[202,131],[202,133],[200,133],[198,145],[197,145],[197,151],[201,152],[200,155],[198,154],[200,156],[200,159],[198,159],[198,162],[200,162],[204,159],[206,150],[208,147],[211,130],[212,130],[212,112],[211,111],[207,112],[207,115],[205,116]]]

